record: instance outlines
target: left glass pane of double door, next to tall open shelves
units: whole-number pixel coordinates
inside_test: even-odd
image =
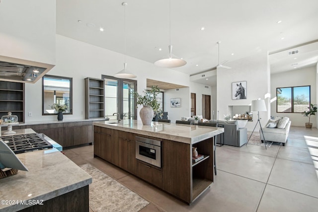
[[[115,79],[105,79],[105,117],[110,119],[116,119],[117,116],[113,116],[118,111],[118,81]]]

